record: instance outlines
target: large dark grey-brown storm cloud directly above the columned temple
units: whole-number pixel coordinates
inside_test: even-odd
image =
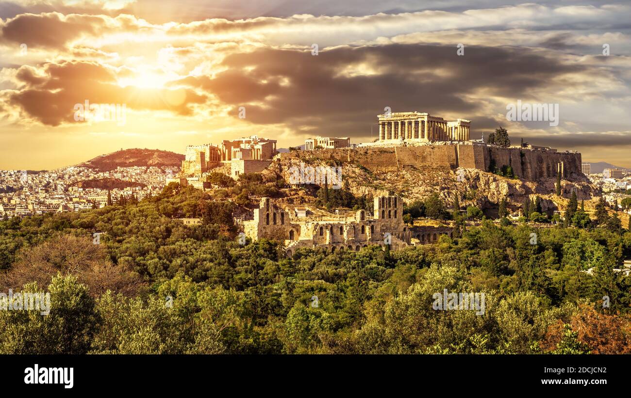
[[[319,55],[262,49],[229,55],[223,61],[228,70],[214,79],[188,77],[179,83],[215,94],[232,105],[234,115],[246,106],[252,123],[286,123],[298,131],[314,128],[317,134],[352,137],[369,133],[385,106],[469,118],[476,129],[480,120],[480,127],[495,128],[497,122],[488,115],[476,117],[483,110],[467,94],[484,90],[490,96],[520,98],[563,74],[585,70],[524,48],[467,51],[458,57],[456,47],[398,44],[339,47]],[[353,74],[362,68],[368,74]]]

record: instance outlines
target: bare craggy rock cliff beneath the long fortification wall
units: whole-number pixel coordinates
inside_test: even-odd
[[[579,200],[586,200],[587,208],[591,207],[592,203],[588,201],[596,193],[596,188],[586,178],[562,180],[563,193],[559,198],[555,195],[555,178],[526,181],[505,178],[478,169],[428,166],[371,170],[353,162],[322,160],[307,154],[301,158],[277,158],[263,174],[269,181],[278,177],[290,181],[290,169],[300,168],[301,162],[314,167],[341,166],[343,188],[350,190],[355,196],[387,195],[394,192],[409,203],[438,193],[445,202],[451,203],[457,192],[461,205],[476,205],[491,214],[497,211],[502,198],[507,199],[510,209],[517,210],[527,198],[537,195],[542,199],[543,210],[551,212],[565,207],[572,190],[577,191]]]

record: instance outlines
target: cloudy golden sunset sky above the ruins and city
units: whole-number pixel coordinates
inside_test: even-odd
[[[386,107],[631,168],[630,17],[628,0],[1,1],[0,169],[369,142]],[[558,123],[507,120],[518,101]]]

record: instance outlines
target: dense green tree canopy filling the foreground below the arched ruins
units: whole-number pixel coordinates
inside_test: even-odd
[[[0,353],[585,353],[591,349],[572,331],[540,348],[578,302],[608,295],[608,311],[631,322],[630,280],[613,271],[631,256],[631,232],[607,222],[533,229],[483,219],[437,244],[298,249],[286,258],[281,242],[236,242],[233,206],[173,184],[137,205],[0,222],[5,269],[20,250],[99,230],[112,262],[151,287],[137,297],[96,293],[72,275],[27,285],[25,292],[51,293],[50,314],[0,310]],[[447,213],[434,195],[405,214],[422,207],[436,218]],[[543,217],[536,199],[527,207],[531,219]],[[575,222],[584,216],[577,210],[572,224],[584,225]],[[454,211],[454,222],[462,220]],[[444,289],[485,293],[484,313],[433,309]]]

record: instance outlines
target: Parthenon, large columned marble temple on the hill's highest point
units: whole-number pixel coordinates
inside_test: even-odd
[[[471,120],[447,121],[419,112],[390,112],[379,118],[377,142],[467,141]]]

